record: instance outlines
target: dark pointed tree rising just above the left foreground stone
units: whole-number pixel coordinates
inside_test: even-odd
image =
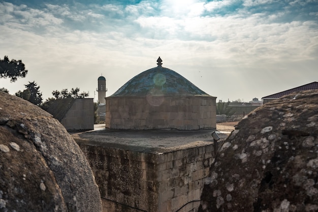
[[[37,85],[35,81],[29,82],[29,84],[24,85],[25,90],[18,91],[15,93],[16,96],[21,97],[35,105],[40,105],[42,103],[42,93],[40,93],[40,86]]]

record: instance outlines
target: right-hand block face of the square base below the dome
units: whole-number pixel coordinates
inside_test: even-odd
[[[204,179],[212,163],[213,146],[207,145],[166,153],[157,170],[156,211],[197,211]]]

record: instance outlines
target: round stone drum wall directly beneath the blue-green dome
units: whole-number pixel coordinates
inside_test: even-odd
[[[106,97],[106,128],[215,128],[215,99],[212,96]]]

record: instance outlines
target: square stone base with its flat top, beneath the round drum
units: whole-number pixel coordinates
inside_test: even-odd
[[[95,125],[72,136],[91,165],[103,211],[197,211],[214,158],[213,131]]]

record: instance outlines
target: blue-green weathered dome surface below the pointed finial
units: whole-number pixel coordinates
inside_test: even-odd
[[[132,78],[111,96],[210,96],[166,67],[157,66]]]

